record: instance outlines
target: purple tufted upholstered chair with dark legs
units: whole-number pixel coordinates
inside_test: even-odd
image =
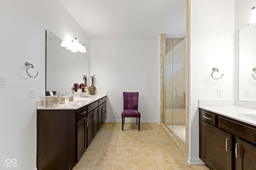
[[[124,111],[122,111],[122,131],[124,130],[124,117],[136,117],[139,131],[140,131],[140,112],[138,111],[139,92],[123,92]]]

